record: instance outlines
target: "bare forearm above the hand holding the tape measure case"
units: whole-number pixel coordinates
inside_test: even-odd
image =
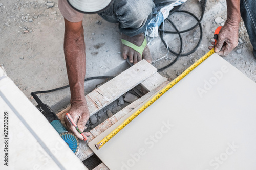
[[[232,26],[239,26],[240,0],[227,0],[227,22]]]

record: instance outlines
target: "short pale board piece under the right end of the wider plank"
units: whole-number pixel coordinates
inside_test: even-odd
[[[154,75],[141,82],[141,85],[144,89],[151,91],[166,81],[168,81],[166,77],[162,77],[156,72]]]

